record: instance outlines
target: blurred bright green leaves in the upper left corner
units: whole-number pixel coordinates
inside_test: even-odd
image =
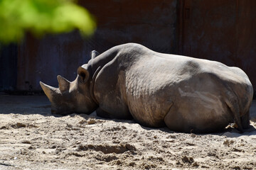
[[[71,0],[0,0],[0,42],[19,42],[26,32],[36,36],[78,29],[91,35],[90,13]]]

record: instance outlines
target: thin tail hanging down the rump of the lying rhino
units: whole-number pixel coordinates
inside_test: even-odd
[[[235,123],[238,125],[238,130],[240,132],[243,132],[241,118],[240,118],[240,108],[238,105],[238,98],[233,92],[228,91],[226,94],[228,94],[225,103],[230,108],[231,113],[233,113],[233,116],[235,118]]]

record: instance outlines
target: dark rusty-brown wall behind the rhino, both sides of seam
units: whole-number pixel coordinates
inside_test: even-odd
[[[81,0],[97,20],[91,38],[79,33],[28,35],[18,47],[18,90],[57,86],[58,74],[73,80],[91,50],[138,42],[158,52],[223,62],[242,68],[256,89],[255,0]]]

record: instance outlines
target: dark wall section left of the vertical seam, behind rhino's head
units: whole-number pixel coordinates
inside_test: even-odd
[[[92,38],[78,33],[28,36],[18,52],[17,89],[39,90],[38,82],[57,86],[58,74],[73,80],[76,69],[89,60],[92,50],[105,50],[137,42],[159,52],[177,52],[176,0],[81,0],[97,20]]]

